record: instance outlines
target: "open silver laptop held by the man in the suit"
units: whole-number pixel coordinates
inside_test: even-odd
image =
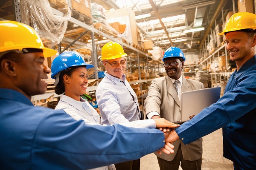
[[[204,88],[194,91],[186,91],[180,96],[180,122],[186,122],[189,116],[200,113],[216,103],[221,96],[221,87]]]

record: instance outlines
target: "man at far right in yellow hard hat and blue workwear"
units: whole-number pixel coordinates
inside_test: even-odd
[[[225,35],[236,71],[218,102],[180,125],[168,139],[189,144],[223,127],[224,157],[233,161],[234,170],[256,170],[256,14],[233,14],[220,35]]]

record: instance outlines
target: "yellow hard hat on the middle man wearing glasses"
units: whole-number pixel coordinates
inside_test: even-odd
[[[122,46],[117,42],[108,42],[102,47],[102,60],[105,59],[116,59],[125,57],[127,54],[125,54],[124,49]]]

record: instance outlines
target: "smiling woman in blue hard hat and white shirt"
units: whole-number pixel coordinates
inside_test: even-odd
[[[86,92],[88,85],[87,68],[93,68],[87,64],[83,57],[76,51],[68,51],[60,54],[52,61],[52,79],[55,79],[55,93],[61,94],[61,99],[56,109],[62,109],[76,120],[84,120],[86,124],[100,125],[101,118],[96,110],[81,97]],[[142,120],[121,125],[130,127],[155,128],[155,127],[177,127],[165,119]],[[153,123],[152,123],[153,121]],[[152,126],[153,124],[153,126]],[[114,165],[95,168],[93,170],[115,170]]]

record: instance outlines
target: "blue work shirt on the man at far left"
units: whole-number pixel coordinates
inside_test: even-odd
[[[85,170],[136,160],[164,146],[163,132],[87,125],[0,88],[1,170]]]

